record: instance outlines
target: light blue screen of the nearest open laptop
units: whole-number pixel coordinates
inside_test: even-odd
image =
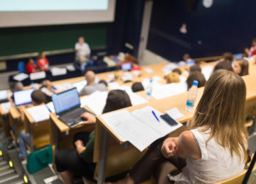
[[[72,88],[68,91],[54,94],[52,96],[52,100],[56,114],[62,113],[65,110],[69,110],[70,108],[74,108],[75,106],[80,105],[77,88]]]

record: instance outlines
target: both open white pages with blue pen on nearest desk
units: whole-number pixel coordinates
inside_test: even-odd
[[[152,110],[159,117],[159,122],[151,113]],[[162,113],[158,110],[146,106],[145,108],[134,110],[132,113],[129,113],[128,110],[121,110],[114,113],[107,113],[100,117],[117,134],[122,142],[129,141],[139,151],[143,151],[152,142],[156,141],[156,139],[164,137],[166,134],[182,126],[181,123],[171,126],[162,120],[160,115]]]

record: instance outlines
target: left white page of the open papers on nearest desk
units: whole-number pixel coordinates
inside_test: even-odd
[[[108,113],[100,117],[123,142],[129,141],[139,151],[143,151],[152,142],[160,138],[157,132],[132,117],[127,110]]]

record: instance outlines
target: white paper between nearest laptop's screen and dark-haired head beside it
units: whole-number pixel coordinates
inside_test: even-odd
[[[107,91],[95,91],[90,96],[81,99],[82,105],[87,105],[95,115],[101,115],[107,100]]]

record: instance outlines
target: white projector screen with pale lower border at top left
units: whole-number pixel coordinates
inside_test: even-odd
[[[115,0],[0,0],[0,28],[114,21]]]

